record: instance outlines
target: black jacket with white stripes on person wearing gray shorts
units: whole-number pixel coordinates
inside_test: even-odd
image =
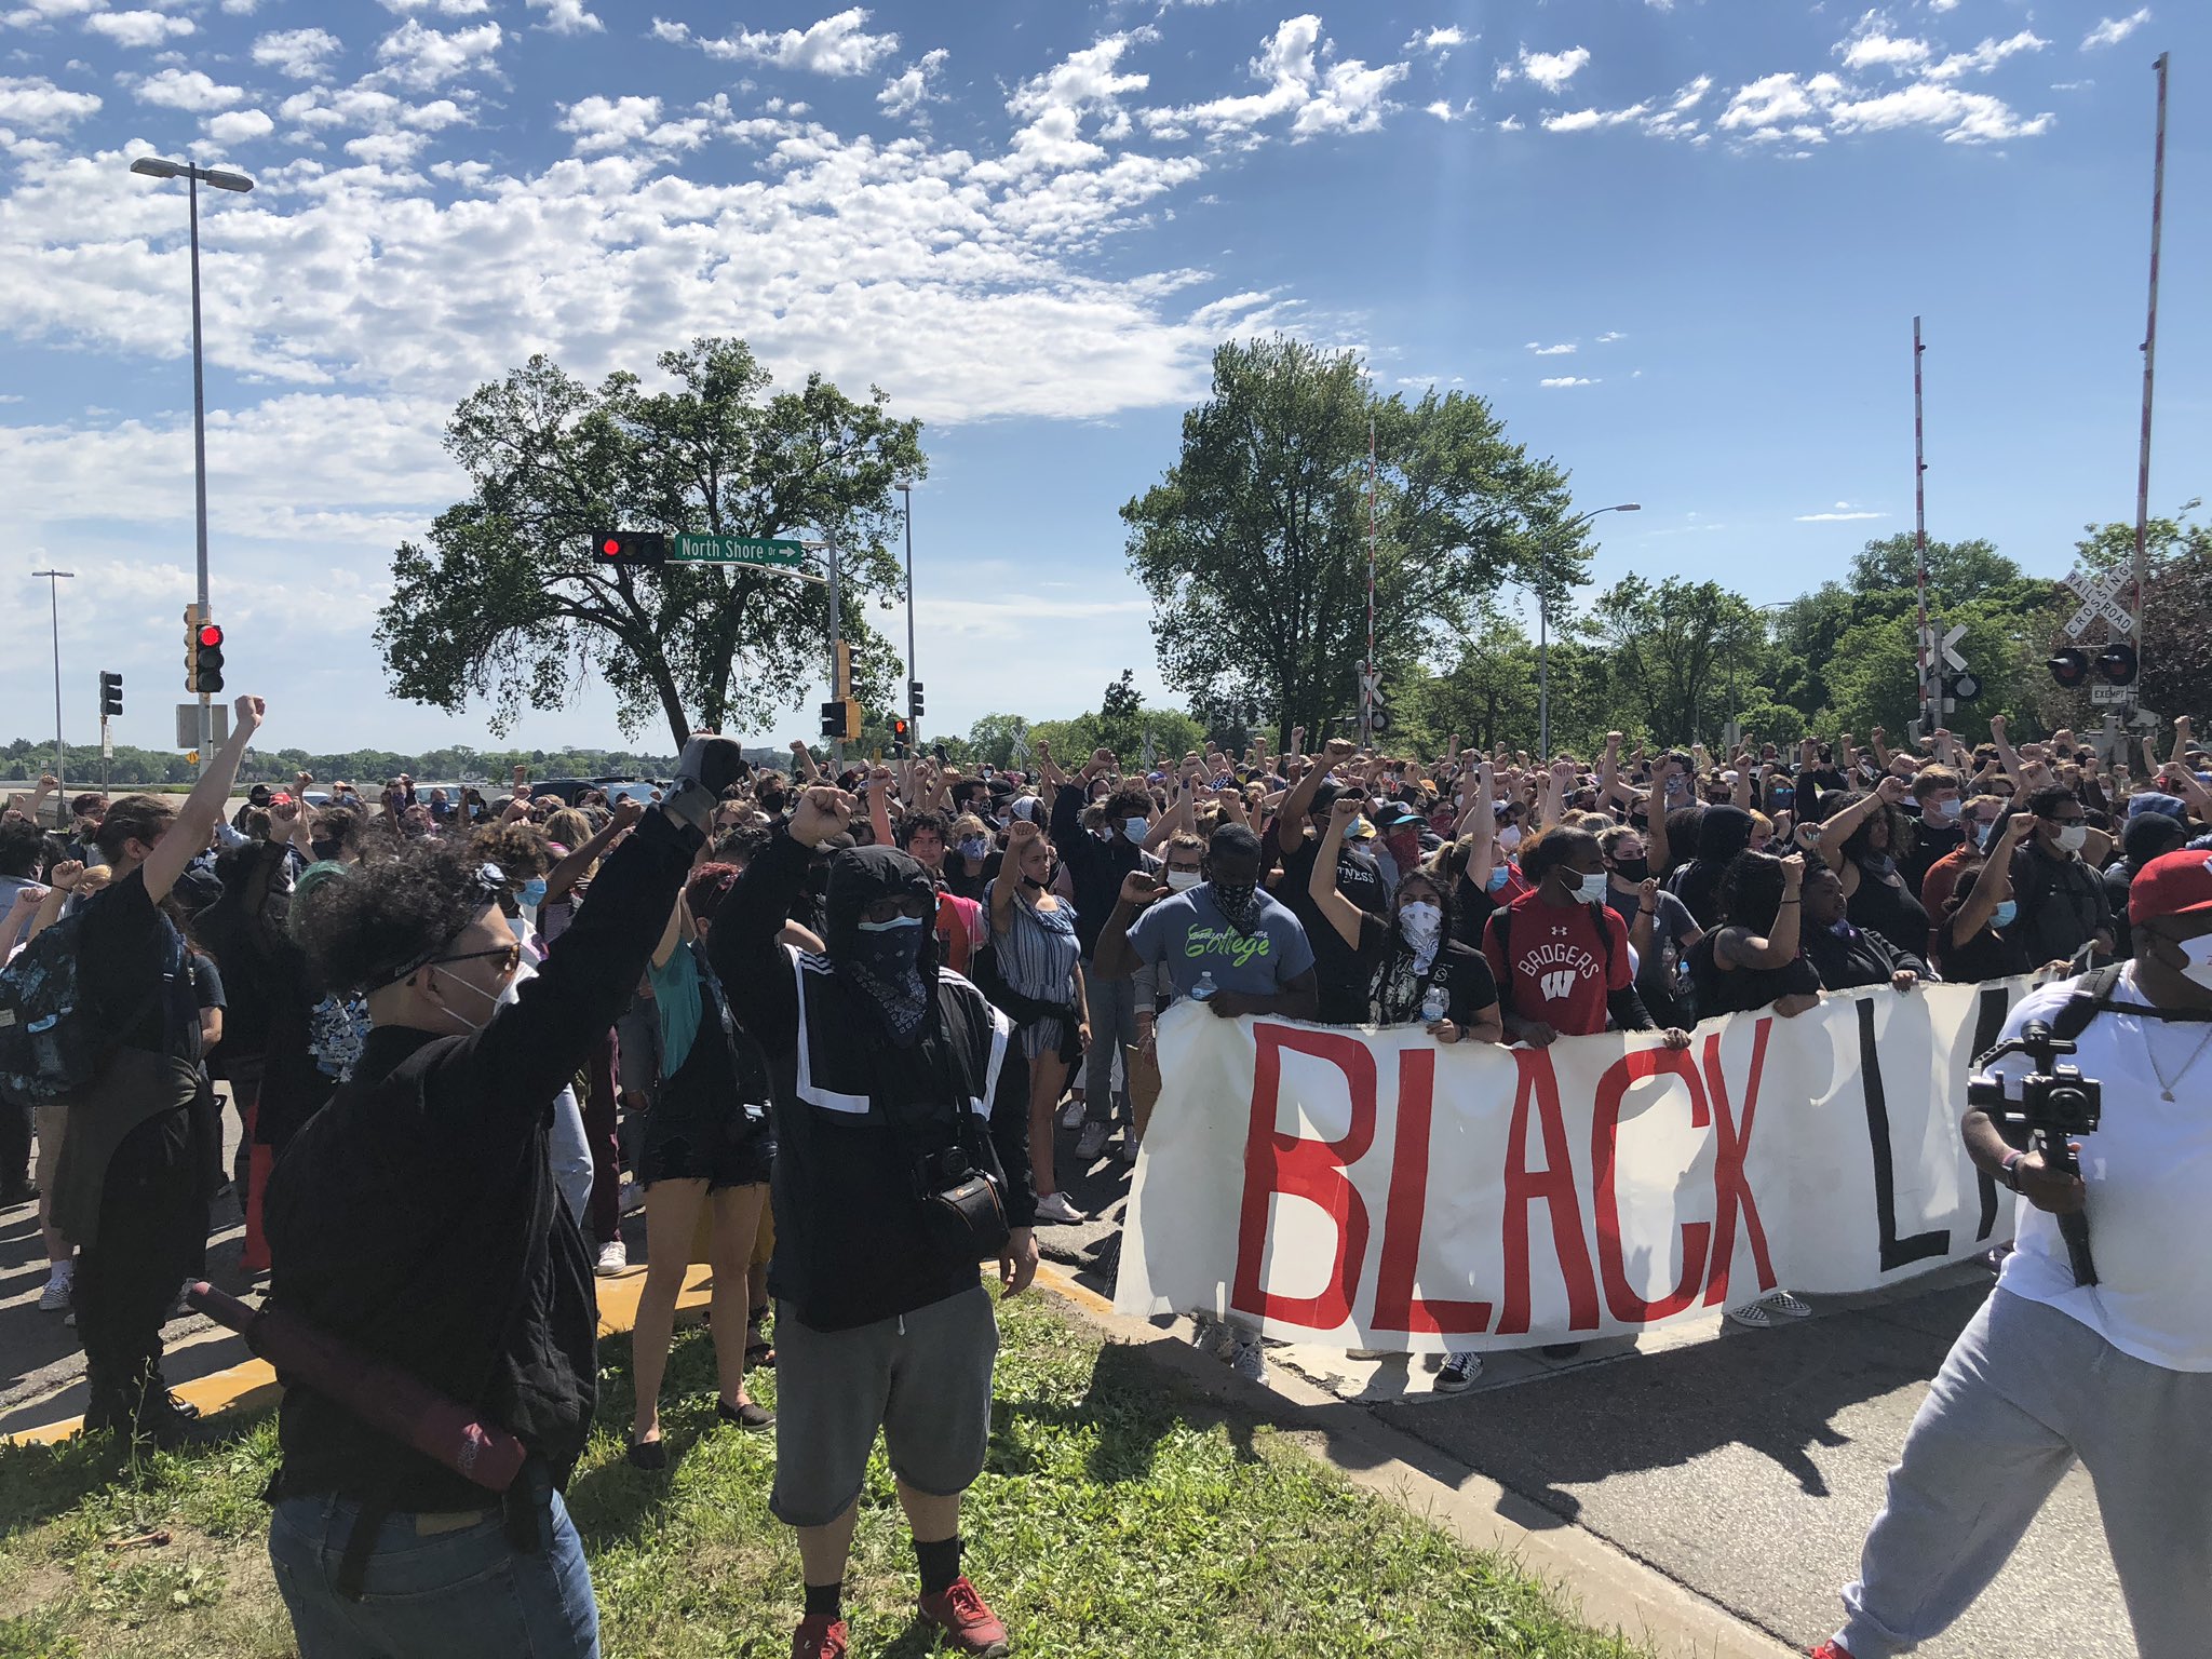
[[[880,852],[860,847],[838,858],[867,863],[867,854]],[[774,1084],[776,1254],[768,1287],[805,1325],[836,1332],[975,1287],[975,1256],[942,1248],[914,1181],[918,1144],[931,1133],[945,1141],[960,1133],[960,1095],[987,1099],[987,1137],[975,1137],[982,1141],[975,1150],[993,1157],[1004,1177],[1009,1225],[1031,1225],[1037,1201],[1029,1186],[1029,1066],[1004,1042],[1004,1015],[958,973],[925,969],[933,984],[929,1018],[922,1035],[900,1048],[876,1006],[825,958],[794,960],[776,933],[805,869],[805,845],[779,832],[714,914],[708,958],[732,1011],[765,1051]],[[843,894],[841,880],[834,878],[834,894]],[[849,918],[832,916],[832,949],[845,933]],[[856,1110],[825,1110],[801,1097],[799,1051],[807,1037],[801,975],[816,1037],[807,1084],[816,1097],[834,1093]],[[1000,1031],[995,1086],[987,1082],[993,1029]]]

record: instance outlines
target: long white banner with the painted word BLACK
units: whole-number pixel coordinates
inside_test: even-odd
[[[1115,1305],[1504,1349],[1973,1256],[2013,1212],[1960,1144],[1966,1073],[2028,984],[1838,993],[1708,1022],[1683,1053],[1646,1033],[1442,1046],[1183,1004],[1159,1026]]]

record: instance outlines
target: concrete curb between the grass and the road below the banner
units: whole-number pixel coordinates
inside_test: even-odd
[[[1097,1292],[1053,1265],[1037,1270],[1037,1285],[1082,1310],[1113,1340],[1137,1349],[1148,1365],[1188,1391],[1232,1402],[1292,1431],[1314,1458],[1363,1491],[1442,1526],[1475,1551],[1515,1562],[1557,1590],[1599,1630],[1619,1630],[1661,1659],[1790,1659],[1796,1648],[1745,1624],[1663,1573],[1601,1537],[1562,1520],[1542,1504],[1500,1486],[1489,1475],[1436,1451],[1413,1436],[1378,1422],[1365,1407],[1325,1394],[1285,1367],[1261,1389],[1225,1365],[1197,1354],[1155,1325],[1117,1314]],[[1285,1409],[1287,1405],[1287,1409]]]

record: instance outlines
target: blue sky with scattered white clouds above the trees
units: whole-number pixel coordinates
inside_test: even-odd
[[[1121,668],[1179,701],[1117,511],[1214,345],[1274,330],[1641,502],[1597,584],[1765,604],[1913,526],[1918,314],[1929,533],[2062,575],[2135,511],[2159,51],[2152,507],[2212,487],[2201,0],[1323,4],[0,0],[4,734],[51,732],[51,566],[69,741],[102,668],[122,743],[186,695],[186,201],[148,153],[257,181],[201,197],[208,498],[274,748],[491,745],[372,641],[462,495],[442,422],[533,352],[650,376],[697,334],[925,420],[925,734]],[[500,741],[624,734],[586,684]]]

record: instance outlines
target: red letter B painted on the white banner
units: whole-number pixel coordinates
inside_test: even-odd
[[[1367,1261],[1367,1203],[1345,1179],[1345,1168],[1367,1157],[1376,1139],[1376,1057],[1360,1037],[1336,1031],[1259,1024],[1252,1037],[1259,1053],[1252,1060],[1252,1128],[1245,1135],[1245,1190],[1237,1221],[1237,1276],[1230,1305],[1290,1325],[1336,1329],[1352,1318],[1360,1265]],[[1352,1124],[1340,1141],[1312,1141],[1276,1130],[1285,1048],[1327,1060],[1345,1073]],[[1329,1283],[1314,1296],[1274,1296],[1261,1283],[1267,1261],[1267,1208],[1276,1194],[1310,1199],[1336,1221],[1336,1261],[1329,1265]]]

